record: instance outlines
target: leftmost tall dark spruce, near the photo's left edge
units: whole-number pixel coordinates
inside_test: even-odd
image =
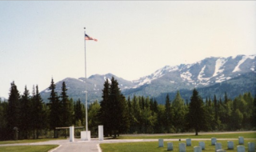
[[[20,127],[20,95],[17,86],[14,82],[10,83],[10,94],[8,98],[8,108],[7,108],[7,128],[9,130],[10,138],[13,138],[14,127]]]

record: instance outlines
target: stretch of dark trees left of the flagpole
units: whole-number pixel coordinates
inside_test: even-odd
[[[58,138],[56,127],[83,126],[85,106],[79,99],[73,101],[68,97],[65,82],[62,82],[60,94],[55,87],[52,79],[49,102],[45,103],[38,86],[33,87],[32,94],[25,86],[24,93],[20,94],[15,83],[11,82],[8,101],[0,100],[0,139],[14,139],[15,131],[18,131],[18,139]],[[18,130],[14,130],[15,127]]]

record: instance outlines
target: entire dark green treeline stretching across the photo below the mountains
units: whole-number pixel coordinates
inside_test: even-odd
[[[32,94],[26,89],[21,95],[14,82],[11,83],[7,102],[0,100],[0,139],[14,139],[14,127],[18,127],[18,138],[39,138],[64,135],[55,130],[63,126],[85,126],[85,106],[78,99],[73,101],[66,94],[66,83],[62,92],[55,91],[54,80],[50,83],[49,103],[42,102],[38,86]],[[106,80],[102,90],[102,101],[95,101],[88,109],[88,126],[92,135],[98,134],[98,125],[104,126],[105,136],[118,134],[156,134],[194,131],[255,130],[256,98],[250,93],[238,94],[234,100],[228,98],[205,98],[196,89],[190,101],[177,91],[173,101],[166,95],[161,105],[154,98],[136,96],[125,98],[114,78]],[[89,94],[90,95],[90,94]],[[59,132],[59,133],[58,133]]]

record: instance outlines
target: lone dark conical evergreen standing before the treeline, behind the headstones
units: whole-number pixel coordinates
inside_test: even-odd
[[[187,122],[189,127],[195,130],[195,135],[198,135],[200,130],[207,129],[206,111],[203,106],[202,98],[198,95],[198,91],[194,89],[190,98]]]

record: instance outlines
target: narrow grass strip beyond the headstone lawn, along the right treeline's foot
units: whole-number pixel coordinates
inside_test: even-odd
[[[230,134],[182,134],[182,135],[134,135],[126,136],[122,135],[118,139],[158,139],[158,138],[256,138],[256,132],[242,132],[242,133],[230,133]]]

